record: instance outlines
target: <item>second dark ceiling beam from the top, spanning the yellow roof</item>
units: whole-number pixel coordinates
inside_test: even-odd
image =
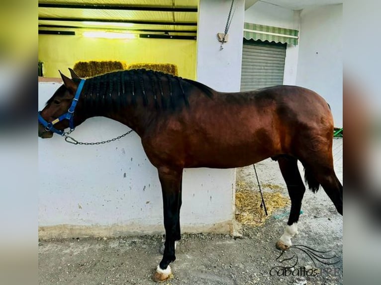
[[[104,23],[131,23],[142,25],[169,25],[169,26],[197,26],[197,22],[168,22],[168,21],[140,21],[122,19],[92,19],[92,18],[58,18],[38,17],[40,21],[63,21],[63,22],[104,22]]]

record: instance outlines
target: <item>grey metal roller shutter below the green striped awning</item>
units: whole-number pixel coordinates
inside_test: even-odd
[[[241,91],[282,85],[286,44],[243,42]]]

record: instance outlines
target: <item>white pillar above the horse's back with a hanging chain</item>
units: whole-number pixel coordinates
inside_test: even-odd
[[[241,84],[245,1],[235,0],[228,42],[220,51],[231,0],[200,0],[197,27],[197,81],[218,91],[239,91]]]

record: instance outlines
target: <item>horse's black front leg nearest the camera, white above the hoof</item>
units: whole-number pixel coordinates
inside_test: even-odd
[[[163,212],[165,227],[165,248],[163,259],[159,263],[153,276],[155,282],[163,282],[170,277],[171,267],[169,264],[176,260],[175,241],[179,238],[178,231],[180,206],[181,206],[181,183],[183,169],[172,169],[169,167],[160,167],[159,179],[163,194]]]

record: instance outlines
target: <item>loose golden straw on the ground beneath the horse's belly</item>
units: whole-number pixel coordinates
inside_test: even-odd
[[[263,198],[266,203],[267,216],[265,210],[261,208],[261,194],[253,191],[245,182],[238,182],[235,194],[236,220],[247,225],[263,225],[271,214],[288,204],[288,198],[277,191],[264,192]]]

